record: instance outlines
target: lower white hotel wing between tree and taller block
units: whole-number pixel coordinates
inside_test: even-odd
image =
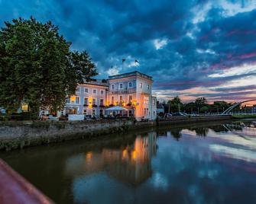
[[[101,116],[105,114],[105,102],[109,85],[105,80],[92,80],[79,84],[76,95],[66,99],[64,113]]]

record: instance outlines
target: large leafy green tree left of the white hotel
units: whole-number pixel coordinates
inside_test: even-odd
[[[0,30],[0,106],[11,112],[26,103],[34,116],[40,107],[62,109],[66,95],[97,74],[89,54],[71,52],[70,44],[50,21],[5,22]]]

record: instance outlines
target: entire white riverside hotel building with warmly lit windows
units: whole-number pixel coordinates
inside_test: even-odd
[[[109,76],[107,80],[86,81],[76,95],[66,99],[63,114],[108,115],[108,108],[124,107],[137,120],[157,118],[157,99],[152,96],[152,77],[141,72]],[[115,114],[115,113],[114,113]]]

